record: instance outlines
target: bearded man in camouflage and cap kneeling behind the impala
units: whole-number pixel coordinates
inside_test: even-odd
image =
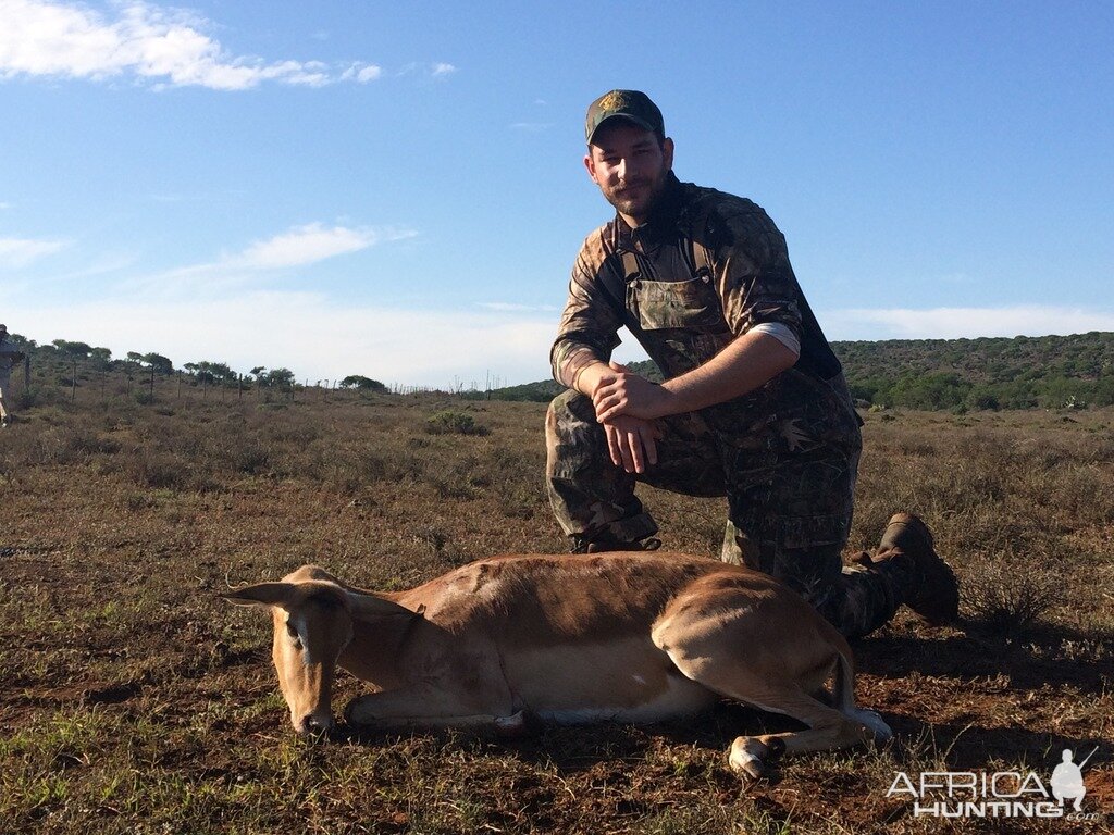
[[[661,544],[638,482],[726,495],[722,559],[786,583],[843,635],[902,603],[955,619],[955,574],[910,513],[842,563],[861,420],[778,227],[749,199],[677,179],[644,92],[592,102],[585,137],[616,215],[580,248],[550,352],[568,391],[546,418],[547,488],[573,550]],[[610,361],[624,325],[664,383]]]

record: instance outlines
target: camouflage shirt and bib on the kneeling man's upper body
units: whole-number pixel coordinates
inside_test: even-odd
[[[587,237],[550,352],[554,377],[571,387],[582,367],[607,362],[626,326],[666,379],[704,364],[760,323],[800,340],[793,369],[761,389],[704,410],[714,428],[858,438],[839,360],[809,308],[785,238],[742,197],[668,175],[649,219],[632,229],[616,215]],[[789,433],[792,434],[792,433]]]

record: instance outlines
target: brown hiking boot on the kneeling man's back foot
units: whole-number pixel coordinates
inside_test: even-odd
[[[934,626],[959,616],[959,582],[948,563],[932,548],[932,532],[912,513],[895,513],[878,543],[874,561],[901,551],[912,559],[915,579],[906,606]]]

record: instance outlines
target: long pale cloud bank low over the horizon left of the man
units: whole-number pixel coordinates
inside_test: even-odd
[[[0,289],[0,297],[3,296]],[[549,375],[554,316],[354,306],[301,292],[254,292],[209,301],[119,298],[74,306],[3,301],[9,326],[39,342],[80,340],[157,351],[180,366],[227,362],[291,369],[299,380],[367,374],[407,385],[482,385],[490,371],[510,383]]]

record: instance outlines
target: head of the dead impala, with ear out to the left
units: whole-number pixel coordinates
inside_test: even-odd
[[[315,566],[303,566],[278,582],[247,586],[223,597],[237,606],[271,609],[271,657],[294,730],[332,730],[336,659],[352,640],[352,613],[344,589]]]

